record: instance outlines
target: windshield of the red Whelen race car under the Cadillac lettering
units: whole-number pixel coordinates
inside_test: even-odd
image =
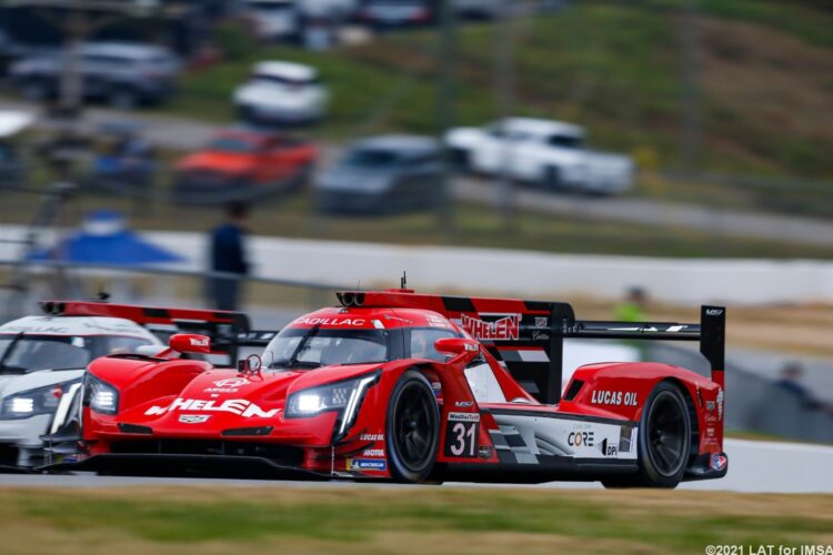
[[[335,364],[368,364],[389,360],[388,332],[288,327],[263,353],[270,369],[313,369]]]

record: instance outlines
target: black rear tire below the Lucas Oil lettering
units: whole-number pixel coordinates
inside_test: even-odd
[[[648,397],[639,432],[639,474],[611,476],[605,487],[674,488],[691,452],[691,415],[678,386],[661,382]]]

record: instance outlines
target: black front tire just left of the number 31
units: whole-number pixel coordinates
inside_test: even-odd
[[[385,442],[391,476],[397,482],[424,482],[431,476],[440,441],[440,408],[424,375],[409,370],[388,402]]]

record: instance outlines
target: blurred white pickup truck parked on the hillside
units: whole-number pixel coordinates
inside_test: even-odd
[[[451,130],[445,141],[458,164],[488,175],[559,190],[612,194],[631,188],[630,157],[584,147],[584,129],[560,121],[506,118],[485,128]]]

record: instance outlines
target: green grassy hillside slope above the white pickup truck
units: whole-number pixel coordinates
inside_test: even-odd
[[[680,0],[588,0],[559,13],[520,21],[516,112],[585,124],[594,144],[631,152],[648,168],[679,167],[681,4]],[[820,130],[831,127],[829,104],[819,108],[802,102],[807,91],[814,99],[833,93],[833,80],[824,81],[829,71],[817,62],[833,49],[833,12],[816,4],[821,2],[703,0],[706,27],[723,26],[712,30],[719,41],[704,39],[701,54],[704,170],[833,179],[831,134],[791,131],[795,125],[784,125],[786,119],[787,123],[817,120]],[[725,27],[729,23],[744,23],[749,32],[737,33]],[[458,39],[458,123],[481,124],[499,113],[493,92],[495,31],[490,24],[471,23],[461,28]],[[722,44],[725,41],[731,44]],[[785,60],[777,60],[781,41],[791,44]],[[189,75],[182,94],[165,110],[230,121],[231,91],[251,64],[287,59],[318,67],[331,88],[332,113],[318,131],[320,135],[344,139],[390,130],[432,133],[436,130],[435,47],[434,32],[416,31],[330,52],[259,48],[243,59]],[[765,56],[756,58],[762,52]],[[760,82],[737,83],[737,94],[747,102],[739,104],[730,98],[731,90],[710,87],[712,60],[760,71]],[[791,65],[806,71],[793,74]],[[790,87],[773,80],[784,80]],[[782,111],[762,117],[755,111],[757,104],[777,105]]]

